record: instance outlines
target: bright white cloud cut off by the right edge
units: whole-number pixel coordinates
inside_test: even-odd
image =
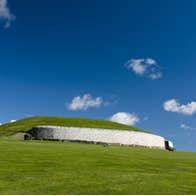
[[[186,105],[180,105],[176,99],[171,99],[163,104],[163,108],[168,112],[176,112],[185,115],[196,113],[196,102],[192,101]]]

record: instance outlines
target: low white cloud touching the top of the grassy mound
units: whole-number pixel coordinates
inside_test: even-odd
[[[110,121],[125,124],[125,125],[135,125],[140,119],[135,114],[130,114],[126,112],[118,112],[109,118]]]

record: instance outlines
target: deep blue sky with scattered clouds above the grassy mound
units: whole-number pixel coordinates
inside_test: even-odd
[[[0,122],[124,112],[128,122],[137,117],[134,126],[196,151],[195,6],[0,0]]]

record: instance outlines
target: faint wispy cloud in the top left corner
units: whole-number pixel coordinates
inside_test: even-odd
[[[5,28],[10,27],[11,22],[15,20],[15,16],[10,12],[7,4],[7,0],[0,0],[0,20],[5,21]]]

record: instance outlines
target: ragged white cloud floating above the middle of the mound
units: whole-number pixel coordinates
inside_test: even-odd
[[[90,94],[85,94],[83,97],[74,97],[70,104],[69,110],[87,110],[89,108],[99,108],[103,104],[102,97],[92,98]]]

